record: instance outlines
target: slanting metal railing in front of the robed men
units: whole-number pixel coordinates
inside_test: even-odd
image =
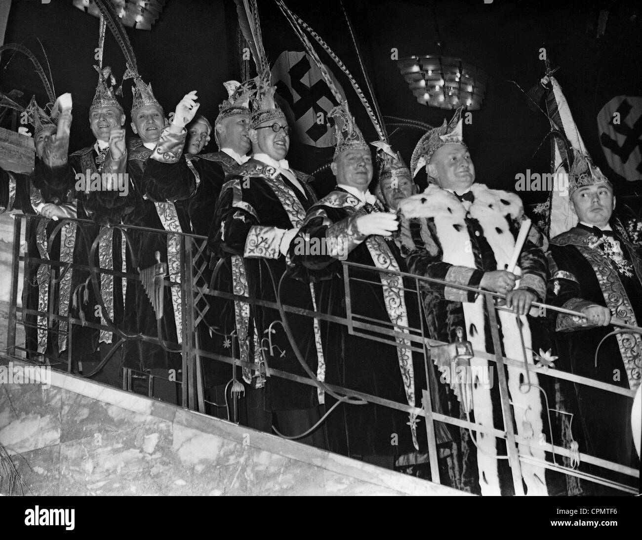
[[[310,386],[322,386],[331,390],[336,394],[342,396],[351,396],[355,398],[360,398],[363,401],[369,403],[374,403],[381,406],[386,406],[406,412],[408,414],[418,415],[419,417],[424,417],[426,425],[426,434],[428,437],[428,456],[429,456],[429,467],[431,470],[431,479],[433,482],[440,483],[440,471],[438,468],[438,449],[437,449],[437,438],[436,438],[436,427],[435,422],[442,422],[443,424],[448,424],[455,426],[457,428],[464,428],[471,430],[471,432],[486,433],[496,439],[505,440],[507,446],[507,458],[508,464],[510,465],[510,470],[512,473],[512,480],[514,484],[514,492],[518,495],[524,494],[523,482],[521,475],[521,464],[536,464],[537,466],[545,467],[552,471],[559,471],[564,475],[576,476],[589,482],[599,483],[612,487],[619,491],[625,493],[637,493],[638,488],[635,487],[637,482],[634,480],[639,478],[639,471],[632,469],[631,467],[624,466],[622,464],[610,462],[608,460],[602,459],[600,457],[592,456],[587,453],[572,453],[568,448],[555,444],[554,440],[542,441],[534,440],[524,435],[519,435],[514,429],[515,416],[514,410],[512,408],[512,401],[510,399],[510,392],[508,390],[507,382],[507,373],[506,368],[518,368],[526,372],[527,378],[529,374],[536,374],[539,376],[551,377],[555,379],[560,379],[568,381],[570,383],[575,383],[576,385],[586,385],[587,387],[599,388],[605,392],[610,392],[611,394],[618,394],[620,396],[627,396],[631,399],[634,397],[634,390],[629,390],[627,388],[619,387],[617,385],[611,385],[609,383],[604,383],[603,381],[597,381],[594,379],[589,379],[586,377],[578,376],[576,374],[565,372],[559,369],[546,369],[542,370],[540,367],[528,363],[526,358],[521,360],[517,358],[506,358],[502,356],[501,351],[501,339],[498,331],[498,310],[510,311],[507,308],[496,305],[497,299],[503,299],[505,295],[498,293],[487,292],[483,290],[478,290],[476,288],[471,288],[467,286],[459,286],[452,283],[446,283],[438,279],[429,279],[426,277],[420,277],[413,274],[407,274],[404,272],[394,272],[392,270],[386,270],[385,274],[399,275],[401,276],[406,283],[413,283],[413,286],[410,288],[405,288],[405,292],[413,293],[416,296],[417,301],[417,313],[422,313],[421,305],[421,292],[422,287],[427,284],[441,284],[449,286],[449,288],[458,288],[461,290],[473,291],[480,293],[485,297],[485,304],[487,307],[487,317],[489,318],[490,330],[492,333],[492,345],[494,354],[487,353],[486,351],[474,351],[474,356],[476,358],[482,358],[494,363],[496,365],[497,373],[497,382],[499,385],[499,396],[501,398],[501,415],[503,420],[503,429],[490,428],[488,426],[482,426],[476,422],[471,422],[469,419],[464,420],[461,418],[451,417],[449,415],[437,412],[434,410],[433,392],[435,388],[431,389],[431,385],[428,383],[428,388],[424,388],[422,392],[422,406],[413,407],[407,403],[397,403],[395,401],[390,401],[389,399],[383,399],[378,396],[372,396],[369,394],[364,394],[363,392],[358,392],[352,390],[351,388],[338,387],[336,385],[330,385],[327,383],[319,383],[312,378],[306,378],[303,376],[291,374],[289,372],[284,372],[282,370],[273,369],[270,367],[270,354],[272,354],[271,347],[263,348],[263,366],[259,363],[254,363],[250,361],[242,361],[239,358],[236,358],[236,354],[226,355],[218,354],[213,351],[207,351],[198,347],[198,342],[195,338],[196,329],[199,324],[204,324],[204,318],[208,309],[214,309],[216,306],[216,299],[226,299],[234,301],[247,302],[249,304],[254,304],[256,306],[264,306],[267,308],[277,309],[282,314],[284,313],[295,313],[298,315],[304,315],[305,317],[313,317],[318,320],[326,320],[334,324],[341,324],[347,327],[349,333],[352,335],[359,335],[363,338],[370,340],[376,340],[390,345],[394,343],[394,338],[402,338],[410,343],[410,345],[398,344],[397,346],[406,347],[413,351],[413,353],[421,353],[424,355],[424,366],[426,368],[426,380],[429,380],[428,373],[429,370],[434,369],[433,362],[430,358],[430,348],[438,345],[444,345],[443,342],[438,340],[433,340],[428,336],[428,331],[426,329],[426,321],[423,316],[419,317],[419,326],[417,327],[399,327],[398,325],[393,325],[390,321],[376,320],[370,317],[364,317],[362,315],[356,315],[352,309],[352,286],[354,283],[359,281],[365,281],[380,286],[378,275],[381,271],[370,266],[358,265],[355,263],[347,263],[346,261],[342,262],[343,269],[343,282],[345,285],[345,306],[346,306],[346,316],[338,317],[336,315],[329,315],[327,313],[321,313],[318,311],[313,311],[310,309],[304,309],[297,306],[290,306],[281,304],[281,302],[272,302],[264,299],[257,298],[248,298],[242,295],[236,295],[229,291],[223,290],[214,290],[211,287],[211,283],[214,283],[214,280],[211,275],[209,275],[207,268],[207,249],[206,249],[206,239],[200,236],[194,236],[189,234],[179,234],[166,231],[157,231],[155,229],[146,229],[144,227],[134,227],[129,225],[118,225],[114,229],[120,230],[123,232],[125,238],[127,239],[128,245],[131,247],[131,240],[129,238],[130,232],[134,230],[150,232],[153,234],[159,234],[162,236],[168,236],[173,234],[178,236],[180,239],[180,283],[177,281],[171,281],[171,279],[164,280],[164,287],[178,287],[180,288],[181,302],[182,302],[182,340],[181,343],[168,342],[166,340],[159,339],[158,336],[148,336],[143,334],[137,335],[126,335],[123,333],[122,329],[115,327],[113,324],[103,325],[96,324],[87,320],[82,320],[80,318],[73,317],[71,311],[65,316],[62,317],[58,315],[56,306],[53,306],[53,302],[49,302],[48,311],[39,311],[37,309],[28,309],[24,306],[18,305],[18,283],[19,283],[19,273],[21,265],[24,265],[24,287],[28,287],[28,275],[30,275],[29,268],[31,265],[46,265],[49,266],[51,270],[51,283],[50,290],[55,292],[56,283],[60,282],[61,275],[64,272],[72,271],[74,268],[80,268],[83,270],[89,270],[92,276],[92,287],[94,294],[97,299],[101,299],[100,295],[100,274],[113,275],[114,277],[119,277],[126,280],[140,281],[141,277],[134,272],[121,272],[119,270],[108,269],[108,268],[95,268],[91,264],[82,264],[82,263],[61,263],[56,261],[56,257],[53,257],[51,254],[51,247],[53,241],[55,240],[55,234],[59,234],[61,227],[56,227],[55,231],[51,232],[48,238],[48,245],[46,250],[49,254],[49,258],[42,258],[40,256],[34,256],[27,252],[21,252],[21,231],[23,228],[23,222],[28,225],[28,228],[32,229],[39,220],[44,218],[40,216],[24,216],[17,215],[15,216],[15,229],[13,235],[13,259],[12,259],[12,293],[11,293],[11,302],[10,302],[10,315],[8,320],[8,354],[10,356],[17,356],[19,354],[28,354],[32,358],[37,357],[38,355],[34,351],[28,351],[26,347],[21,346],[16,343],[16,327],[19,324],[25,325],[25,316],[32,315],[35,317],[46,318],[47,320],[47,331],[55,333],[56,325],[54,322],[66,322],[66,336],[69,340],[69,351],[72,351],[73,354],[73,333],[71,329],[74,325],[82,325],[91,327],[98,330],[107,330],[114,332],[114,335],[119,336],[119,340],[112,347],[112,350],[109,354],[113,354],[116,351],[117,347],[120,347],[126,340],[142,340],[144,342],[150,342],[164,347],[169,347],[171,349],[176,349],[180,351],[182,357],[182,380],[178,381],[182,388],[182,406],[189,408],[191,410],[197,410],[200,412],[205,412],[205,399],[204,399],[204,388],[203,388],[203,379],[202,379],[202,363],[204,360],[213,360],[228,363],[233,366],[248,367],[250,369],[265,369],[267,377],[280,377],[288,379],[290,381],[297,381],[304,385]],[[78,231],[83,230],[83,225],[88,225],[91,222],[86,222],[83,220],[63,220],[64,222],[76,222],[78,223]],[[58,225],[62,225],[59,223]],[[33,230],[33,229],[32,229]],[[83,234],[82,232],[80,234]],[[104,230],[101,230],[100,234],[105,234]],[[99,235],[100,237],[100,235]],[[94,252],[98,245],[100,238],[94,238],[92,242],[91,258],[89,261],[94,260]],[[134,261],[135,262],[135,261]],[[132,265],[135,268],[135,265]],[[219,265],[220,266],[220,265]],[[350,275],[351,269],[359,270],[360,275],[370,273],[372,274],[372,280],[365,279],[363,277],[353,277]],[[338,279],[338,278],[336,278]],[[399,280],[400,282],[403,280]],[[53,295],[55,297],[55,294]],[[565,313],[567,315],[573,315],[577,317],[583,317],[582,313],[577,313],[569,309],[557,308],[548,304],[535,302],[533,304],[537,308],[541,308],[547,311],[557,311],[559,313]],[[105,306],[100,300],[101,309],[105,309]],[[625,329],[630,329],[632,331],[639,331],[637,327],[632,327],[627,324],[616,323],[616,326],[621,326]],[[58,327],[58,331],[61,331]],[[521,330],[520,330],[521,331]],[[160,336],[162,338],[162,336]],[[55,340],[53,340],[55,341]],[[295,345],[293,344],[293,347]],[[67,361],[67,371],[72,370],[73,358],[71,354],[69,355]],[[48,361],[48,363],[60,362],[60,358],[53,354],[42,354],[40,355],[39,360]],[[149,376],[148,374],[145,374]],[[123,388],[131,390],[131,385],[127,384],[126,381],[131,381],[132,372],[125,372],[123,376]],[[153,378],[149,379],[150,388],[153,385]],[[543,392],[543,390],[541,390]],[[150,395],[151,395],[150,390]],[[546,401],[548,404],[548,400]],[[551,409],[548,407],[546,413],[550,419]],[[550,423],[550,420],[549,420]],[[549,425],[551,438],[553,434],[553,426]],[[532,455],[528,455],[523,451],[524,448],[534,447],[538,449],[543,449],[548,455],[551,456],[551,460],[541,460],[539,458],[534,458]],[[560,464],[555,460],[555,457],[579,457],[581,462],[584,462],[589,465],[600,467],[607,471],[613,473],[620,473],[621,475],[627,476],[630,478],[630,483],[621,483],[615,482],[614,480],[609,479],[606,476],[600,477],[588,473],[586,471],[578,470],[575,466],[567,466]]]

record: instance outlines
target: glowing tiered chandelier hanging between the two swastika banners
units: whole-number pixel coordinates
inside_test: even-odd
[[[460,58],[408,57],[397,60],[410,91],[422,105],[477,110],[486,91],[486,74]]]

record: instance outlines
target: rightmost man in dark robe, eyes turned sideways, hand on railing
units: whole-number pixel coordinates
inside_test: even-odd
[[[580,311],[585,318],[551,311],[557,367],[635,390],[642,367],[640,336],[606,336],[616,328],[610,324],[614,316],[634,326],[642,323],[642,261],[612,216],[616,200],[611,182],[579,152],[571,168],[569,196],[578,223],[551,240],[546,301]],[[630,424],[632,399],[585,385],[575,385],[575,392],[586,453],[639,467]]]

